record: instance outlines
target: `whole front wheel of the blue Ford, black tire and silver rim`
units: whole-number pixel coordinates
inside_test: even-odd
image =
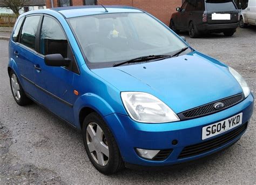
[[[117,142],[99,114],[93,112],[87,115],[83,122],[82,134],[86,153],[100,173],[109,175],[124,168]]]

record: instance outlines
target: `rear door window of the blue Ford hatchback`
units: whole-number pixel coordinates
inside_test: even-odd
[[[36,33],[40,17],[39,15],[26,17],[22,26],[21,44],[31,49],[36,48]]]

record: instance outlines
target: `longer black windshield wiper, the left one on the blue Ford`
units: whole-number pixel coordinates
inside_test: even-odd
[[[149,55],[149,56],[143,56],[143,57],[137,57],[133,58],[131,60],[122,61],[120,63],[114,63],[113,67],[117,67],[123,64],[129,64],[129,63],[138,63],[143,61],[149,61],[154,59],[160,59],[160,58],[171,58],[172,56],[169,54],[159,54],[159,55]]]

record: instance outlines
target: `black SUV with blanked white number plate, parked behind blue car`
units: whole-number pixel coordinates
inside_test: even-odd
[[[238,9],[231,0],[186,0],[176,10],[170,28],[189,31],[191,38],[209,32],[232,36],[238,27]]]

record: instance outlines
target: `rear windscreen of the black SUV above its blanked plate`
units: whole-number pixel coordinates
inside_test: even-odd
[[[207,11],[236,10],[233,1],[207,0]]]

